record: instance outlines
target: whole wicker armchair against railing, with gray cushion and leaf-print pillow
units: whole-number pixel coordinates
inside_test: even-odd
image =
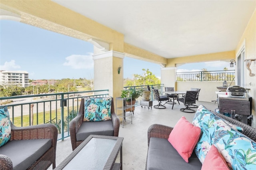
[[[72,149],[75,150],[90,134],[118,136],[119,127],[112,97],[81,99],[79,113],[69,123]]]

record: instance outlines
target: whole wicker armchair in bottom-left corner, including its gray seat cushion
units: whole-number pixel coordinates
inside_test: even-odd
[[[11,138],[0,147],[1,170],[56,167],[58,130],[53,124],[16,127],[11,124]]]

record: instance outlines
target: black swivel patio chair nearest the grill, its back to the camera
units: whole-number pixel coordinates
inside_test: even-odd
[[[197,91],[186,91],[186,94],[184,97],[178,96],[178,99],[177,99],[178,103],[180,104],[180,101],[181,101],[186,106],[186,108],[182,108],[180,109],[180,111],[186,112],[186,113],[196,112],[194,109],[190,108],[190,106],[196,103],[196,94],[197,94]]]

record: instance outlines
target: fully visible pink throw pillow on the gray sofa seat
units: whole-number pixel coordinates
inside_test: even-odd
[[[169,135],[168,141],[180,156],[188,162],[201,134],[201,128],[194,126],[183,116]]]

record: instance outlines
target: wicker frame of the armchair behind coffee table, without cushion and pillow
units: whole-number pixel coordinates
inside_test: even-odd
[[[95,125],[95,123],[96,123],[96,125],[99,125],[99,124],[104,125],[104,123],[108,122],[108,121],[101,121],[101,122],[95,122],[95,123],[94,122],[83,122],[83,118],[84,118],[84,99],[81,99],[79,113],[69,123],[70,140],[71,140],[71,144],[72,144],[72,149],[73,150],[75,150],[75,148],[77,146],[79,146],[90,134],[106,135],[106,132],[104,132],[104,131],[106,131],[106,129],[104,129],[104,131],[103,130],[100,131],[100,130],[98,130],[98,128],[92,129],[92,127],[89,127],[88,128],[89,130],[83,129],[84,131],[86,131],[85,135],[83,136],[84,139],[83,140],[77,140],[77,136],[76,135],[77,135],[77,132],[80,129],[82,124],[86,124],[86,125],[94,124]],[[111,136],[118,136],[118,134],[119,134],[119,127],[120,127],[120,120],[119,120],[119,118],[116,115],[115,110],[114,110],[114,100],[113,100],[113,98],[112,98],[112,101],[111,101],[111,122],[112,122],[112,126],[113,126],[113,129],[114,129],[114,134],[111,135]],[[91,130],[93,130],[93,131],[91,131]],[[108,135],[108,136],[110,136],[110,135]]]

